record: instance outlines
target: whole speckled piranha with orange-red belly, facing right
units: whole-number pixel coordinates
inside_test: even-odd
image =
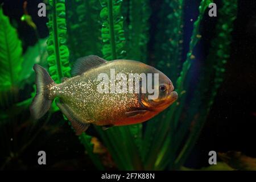
[[[99,75],[104,73],[106,77],[111,77],[113,69],[122,75],[158,73],[158,80],[153,83],[153,87],[157,88],[158,97],[150,99],[151,93],[142,92],[147,88],[142,84],[141,79],[139,80],[140,92],[135,92],[135,86],[134,90],[129,90],[134,92],[99,92],[98,88],[103,80],[103,78],[99,80]],[[90,124],[102,126],[105,130],[112,126],[147,121],[173,104],[178,97],[172,81],[164,73],[134,60],[106,61],[94,55],[82,57],[74,64],[73,77],[64,78],[60,84],[56,84],[46,69],[40,65],[35,64],[34,71],[36,96],[30,106],[32,117],[35,119],[43,117],[50,109],[52,101],[57,98],[56,105],[71,122],[77,135],[88,129]],[[118,84],[122,79],[123,77],[115,77],[114,84]],[[122,81],[126,81],[128,85],[131,80],[123,79]],[[122,84],[120,88],[124,89],[126,84]],[[105,91],[110,89],[112,88],[106,87]]]

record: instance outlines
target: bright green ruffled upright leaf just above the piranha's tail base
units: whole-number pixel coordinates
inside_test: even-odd
[[[66,46],[67,27],[65,22],[65,1],[49,0],[52,13],[49,14],[49,38],[47,40],[49,73],[52,79],[60,83],[61,78],[70,77],[69,51]]]

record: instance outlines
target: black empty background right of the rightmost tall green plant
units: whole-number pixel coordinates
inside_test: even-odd
[[[211,150],[256,157],[256,1],[238,1],[232,35],[225,80],[188,160],[199,166],[207,166]]]

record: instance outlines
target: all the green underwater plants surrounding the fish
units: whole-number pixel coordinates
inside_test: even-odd
[[[184,169],[185,160],[199,137],[217,90],[224,80],[232,42],[231,32],[237,15],[237,0],[221,1],[215,25],[216,35],[210,40],[209,53],[200,67],[199,79],[192,85],[191,68],[197,62],[195,49],[201,39],[201,24],[208,13],[209,3],[213,1],[201,0],[188,45],[184,43],[185,2],[163,1],[153,51],[147,47],[152,12],[149,0],[49,0],[49,36],[47,40],[39,39],[25,53],[15,28],[1,7],[0,116],[1,135],[5,135],[1,137],[1,148],[6,148],[1,151],[4,153],[1,155],[5,156],[5,159],[1,159],[1,168],[5,168],[12,158],[18,157],[42,130],[40,125],[47,125],[59,110],[53,102],[44,122],[23,117],[35,96],[33,65],[38,63],[47,68],[53,80],[60,83],[63,77],[71,77],[71,68],[77,58],[98,55],[106,60],[139,60],[158,68],[171,78],[179,99],[145,123],[112,127],[106,131],[94,126],[100,142],[95,142],[94,136],[82,133],[77,138],[93,164],[98,169],[110,168],[99,152],[95,152],[96,145],[101,143],[113,159],[113,166],[118,169]],[[184,47],[188,51],[184,52]],[[193,91],[188,93],[192,87]],[[27,88],[30,96],[20,97],[19,92]],[[11,113],[14,107],[17,113]],[[64,116],[61,118],[68,122]],[[19,130],[29,131],[28,136],[20,138],[19,144],[13,148],[4,139],[13,138],[10,137],[13,133],[18,139]],[[22,143],[28,138],[28,144],[23,146]]]

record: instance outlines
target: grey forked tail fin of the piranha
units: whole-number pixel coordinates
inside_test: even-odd
[[[36,73],[36,96],[30,106],[30,112],[35,119],[41,118],[50,109],[52,100],[49,99],[49,84],[53,84],[54,81],[47,73],[46,69],[38,64],[34,65],[34,71]]]

